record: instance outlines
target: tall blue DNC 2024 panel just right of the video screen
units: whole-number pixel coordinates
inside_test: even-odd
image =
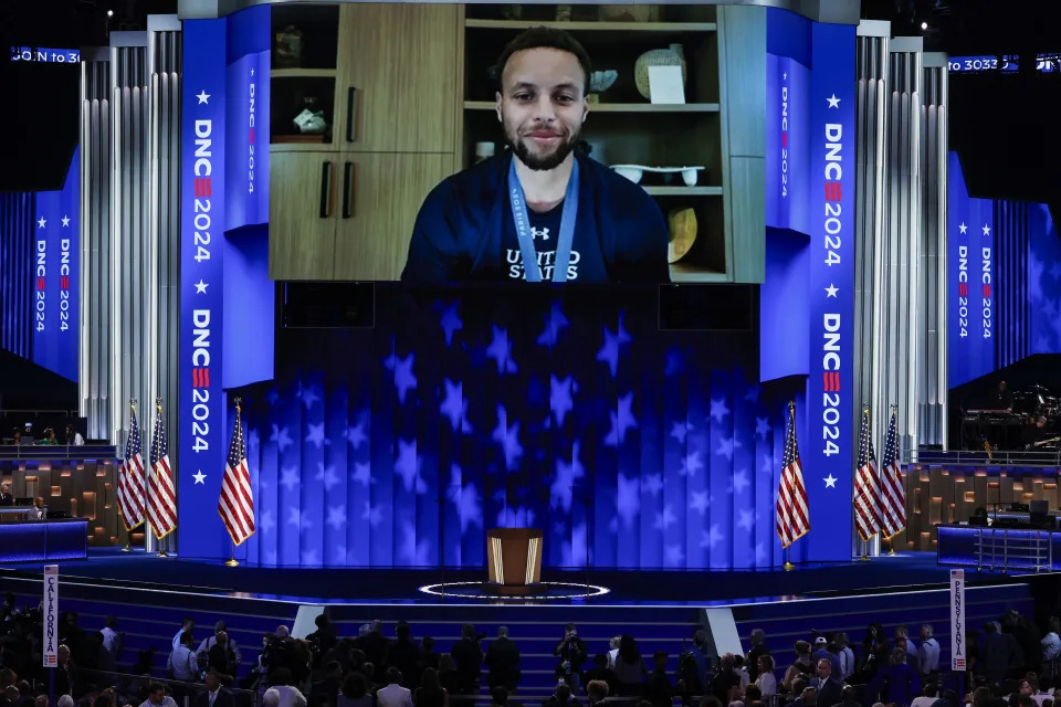
[[[800,451],[818,560],[851,556],[857,428],[854,324],[855,30],[767,15],[767,252],[760,380],[806,376]],[[886,401],[873,404],[884,405]],[[819,479],[829,481],[822,484]]]

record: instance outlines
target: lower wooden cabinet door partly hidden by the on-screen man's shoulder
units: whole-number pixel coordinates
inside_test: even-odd
[[[345,155],[336,279],[398,279],[423,198],[450,173],[444,154]],[[348,207],[348,208],[347,208]]]

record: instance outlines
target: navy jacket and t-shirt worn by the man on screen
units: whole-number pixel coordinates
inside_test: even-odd
[[[585,155],[570,283],[669,282],[670,236],[655,201],[638,184]],[[525,281],[508,199],[504,152],[444,179],[424,199],[409,242],[402,282]],[[547,213],[528,209],[542,276],[553,277],[563,202]]]

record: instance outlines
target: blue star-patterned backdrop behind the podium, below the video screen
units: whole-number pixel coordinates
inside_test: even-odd
[[[654,291],[420,300],[379,285],[376,329],[285,331],[275,383],[239,391],[248,560],[477,568],[489,528],[533,526],[551,567],[781,561],[803,381],[755,383],[756,331],[660,331]]]

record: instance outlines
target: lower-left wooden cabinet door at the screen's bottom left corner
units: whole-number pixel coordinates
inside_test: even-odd
[[[269,169],[269,276],[332,279],[336,177],[330,152],[273,152]]]

